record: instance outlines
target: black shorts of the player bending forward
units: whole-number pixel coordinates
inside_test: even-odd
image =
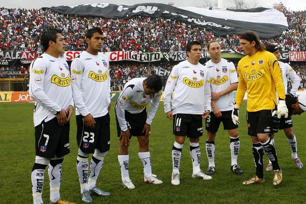
[[[116,112],[116,111],[115,111]],[[144,125],[147,122],[147,108],[144,108],[144,110],[140,113],[130,113],[129,111],[124,111],[125,114],[125,120],[126,124],[128,126],[128,129],[130,130],[130,138],[132,136],[144,136],[146,135],[146,132],[142,132],[144,129]],[[116,114],[116,125],[117,125],[117,135],[120,137],[121,134],[121,128],[117,119]]]

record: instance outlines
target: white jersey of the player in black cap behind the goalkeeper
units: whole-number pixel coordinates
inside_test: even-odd
[[[295,93],[297,93],[297,89],[299,89],[300,78],[299,76],[297,76],[297,73],[295,73],[295,71],[291,68],[291,66],[288,63],[278,61],[278,64],[282,69],[283,83],[285,86],[285,94],[287,94],[287,88],[288,88],[287,77],[289,77],[293,81],[293,85],[292,85],[292,89],[290,93],[294,96]]]

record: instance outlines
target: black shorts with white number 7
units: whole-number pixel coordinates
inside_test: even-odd
[[[43,122],[35,127],[35,153],[39,157],[63,157],[70,152],[69,144],[70,121],[64,126],[58,125],[54,119]]]

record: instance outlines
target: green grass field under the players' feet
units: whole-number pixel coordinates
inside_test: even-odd
[[[114,117],[114,106],[111,116],[111,146],[105,157],[97,184],[109,197],[93,196],[93,203],[305,203],[306,168],[297,169],[291,160],[291,153],[283,131],[275,136],[275,145],[279,164],[283,170],[283,183],[273,187],[271,172],[264,172],[266,183],[262,185],[243,186],[242,181],[255,174],[252,157],[252,142],[247,135],[246,103],[240,108],[240,153],[238,163],[243,175],[237,176],[230,171],[229,136],[223,127],[219,128],[216,137],[215,164],[216,172],[210,181],[192,179],[192,163],[189,154],[189,143],[183,147],[180,174],[181,185],[172,186],[171,149],[174,143],[172,121],[163,112],[163,103],[159,105],[151,125],[150,152],[152,172],[163,181],[161,185],[143,182],[143,168],[138,157],[138,142],[132,138],[129,147],[129,174],[136,188],[127,190],[121,186],[121,172],[118,163],[118,137]],[[0,203],[33,203],[31,187],[31,170],[35,161],[34,104],[1,103],[1,185]],[[305,114],[306,115],[306,114]],[[293,116],[294,133],[298,142],[298,155],[306,164],[305,115]],[[202,150],[201,168],[208,167],[205,152],[205,138],[200,138]],[[62,167],[61,196],[66,200],[83,203],[80,195],[80,184],[76,172],[76,122],[71,119],[70,154]],[[265,156],[265,166],[267,157]],[[46,173],[47,175],[47,173]],[[43,200],[49,200],[49,179],[45,176]]]

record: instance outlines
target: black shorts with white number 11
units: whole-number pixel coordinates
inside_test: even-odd
[[[201,115],[177,113],[173,115],[173,134],[198,138],[203,135],[203,123]]]

